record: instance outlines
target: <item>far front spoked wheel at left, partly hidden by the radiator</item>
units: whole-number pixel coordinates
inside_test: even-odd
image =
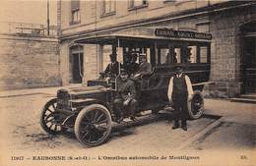
[[[40,125],[41,128],[51,135],[56,135],[62,132],[62,119],[60,113],[56,110],[57,99],[49,100],[41,110]]]

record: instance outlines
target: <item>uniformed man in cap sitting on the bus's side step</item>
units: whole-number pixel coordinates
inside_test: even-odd
[[[125,69],[121,69],[120,78],[117,79],[117,95],[114,99],[117,122],[122,121],[124,111],[130,111],[131,120],[135,120],[137,108],[136,89],[134,83],[128,78],[128,72]]]

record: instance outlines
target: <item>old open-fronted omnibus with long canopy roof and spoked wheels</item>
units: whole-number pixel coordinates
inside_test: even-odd
[[[129,53],[144,54],[153,70],[136,84],[138,113],[152,110],[158,113],[169,104],[167,88],[177,65],[185,66],[194,94],[188,101],[188,115],[198,119],[203,114],[202,90],[209,82],[211,61],[210,33],[169,28],[136,28],[128,32],[92,35],[76,40],[78,44],[110,45],[112,53],[123,65]],[[116,78],[104,77],[88,81],[87,86],[60,88],[55,98],[42,108],[40,125],[51,135],[71,129],[86,146],[96,146],[109,138],[116,114],[113,100],[116,95]],[[129,112],[129,111],[127,111]],[[129,117],[129,113],[125,117]]]

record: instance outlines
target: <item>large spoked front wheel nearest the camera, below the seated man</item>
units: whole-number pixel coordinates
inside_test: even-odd
[[[75,135],[83,145],[99,145],[109,138],[110,133],[111,116],[104,106],[93,104],[78,114]]]

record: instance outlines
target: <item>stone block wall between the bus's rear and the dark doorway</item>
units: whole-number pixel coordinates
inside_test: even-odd
[[[253,7],[227,10],[210,16],[211,84],[208,95],[213,97],[234,97],[241,93],[241,34],[240,27],[255,20]]]

